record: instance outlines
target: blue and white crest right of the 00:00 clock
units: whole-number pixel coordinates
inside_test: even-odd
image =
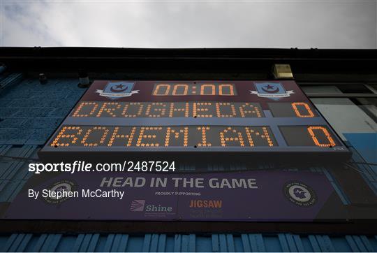
[[[280,82],[254,82],[256,91],[251,90],[251,94],[255,94],[262,98],[279,100],[294,94],[293,90],[284,89]]]

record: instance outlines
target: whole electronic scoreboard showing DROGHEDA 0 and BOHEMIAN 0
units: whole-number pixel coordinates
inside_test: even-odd
[[[95,81],[39,155],[346,159],[294,81]]]

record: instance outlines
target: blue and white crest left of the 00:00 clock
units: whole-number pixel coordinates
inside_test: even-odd
[[[108,82],[105,89],[97,89],[96,93],[112,100],[120,99],[139,93],[138,90],[133,90],[133,85],[135,82]]]

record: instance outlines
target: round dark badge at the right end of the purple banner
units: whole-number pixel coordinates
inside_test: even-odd
[[[317,202],[316,192],[302,182],[288,182],[283,187],[284,194],[290,202],[300,206],[311,206]]]

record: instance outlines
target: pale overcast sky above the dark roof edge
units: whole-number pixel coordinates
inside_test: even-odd
[[[376,1],[6,1],[3,46],[377,48]]]

